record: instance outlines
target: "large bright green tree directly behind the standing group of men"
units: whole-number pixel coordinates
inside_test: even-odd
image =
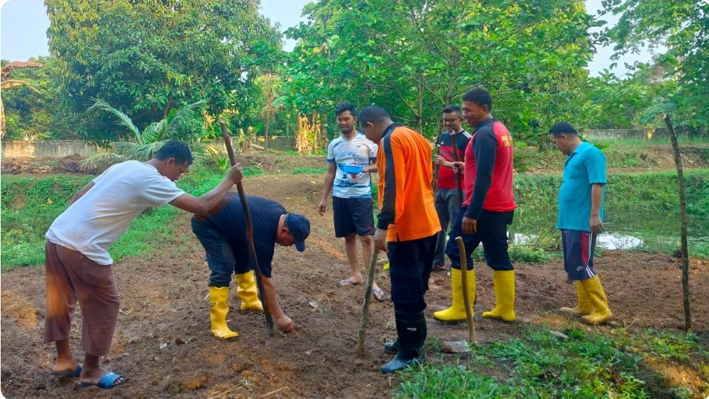
[[[569,0],[321,0],[303,13],[308,25],[288,33],[300,39],[286,84],[296,108],[376,102],[435,134],[440,109],[482,86],[493,114],[526,138],[578,113],[596,24]]]

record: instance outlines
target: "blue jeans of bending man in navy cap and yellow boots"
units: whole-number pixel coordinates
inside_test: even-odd
[[[191,226],[207,255],[207,264],[211,270],[210,287],[228,287],[232,273],[241,274],[250,270],[247,262],[236,262],[237,257],[248,258],[248,248],[234,248],[209,220],[198,222],[192,218]]]

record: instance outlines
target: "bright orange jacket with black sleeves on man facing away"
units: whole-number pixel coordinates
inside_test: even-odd
[[[376,227],[389,229],[389,242],[412,241],[441,230],[433,202],[431,146],[402,124],[384,130],[376,154],[379,214]]]

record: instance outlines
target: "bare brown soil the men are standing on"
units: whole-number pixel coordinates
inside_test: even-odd
[[[269,162],[269,168],[273,163]],[[301,167],[320,167],[301,165]],[[275,172],[276,167],[273,167]],[[232,290],[228,317],[239,332],[233,341],[211,336],[208,268],[198,241],[189,230],[189,215],[175,221],[174,242],[152,256],[129,258],[114,268],[121,292],[121,314],[111,354],[103,365],[130,377],[115,390],[77,389],[76,379],[50,376],[53,345],[44,344],[45,275],[41,267],[16,268],[1,275],[1,391],[6,398],[384,398],[400,379],[382,376],[379,366],[391,359],[382,344],[396,336],[391,302],[373,302],[364,359],[356,359],[357,327],[364,292],[361,287],[337,288],[349,277],[343,241],[333,238],[332,213],[316,211],[320,175],[281,173],[247,177],[247,193],[284,204],[311,219],[305,253],[277,248],[273,277],[281,307],[296,324],[287,336],[267,337],[264,317],[242,314]],[[478,339],[508,339],[529,323],[559,324],[568,319],[555,310],[573,305],[575,291],[564,283],[560,261],[545,265],[518,264],[518,322],[482,319],[493,306],[491,272],[478,265],[476,326]],[[388,273],[378,283],[389,293]],[[652,327],[677,331],[683,327],[681,270],[669,256],[611,252],[597,258],[596,268],[608,293],[614,321],[610,326]],[[694,329],[704,339],[709,330],[709,263],[694,261],[691,271]],[[234,287],[234,286],[233,286]],[[426,296],[429,337],[467,337],[465,324],[445,325],[432,312],[447,307],[450,278],[434,273]],[[316,302],[317,308],[310,303]],[[81,312],[72,329],[72,349],[79,347]],[[436,354],[431,362],[454,362],[457,355]],[[504,378],[502,370],[491,375]]]

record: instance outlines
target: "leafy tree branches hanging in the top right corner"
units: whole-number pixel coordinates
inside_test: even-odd
[[[638,53],[645,43],[666,48],[657,64],[676,87],[656,96],[676,102],[676,123],[707,135],[709,130],[709,4],[703,0],[608,0],[605,11],[620,16],[618,24],[603,32],[615,55]]]

